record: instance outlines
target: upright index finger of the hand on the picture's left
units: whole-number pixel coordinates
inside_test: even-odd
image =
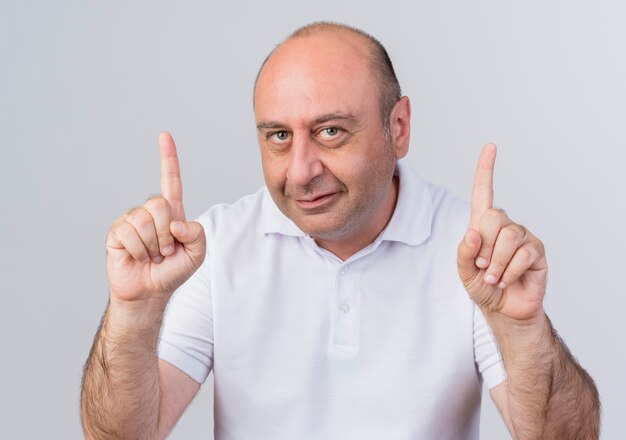
[[[172,220],[185,220],[183,209],[183,183],[180,179],[180,166],[176,144],[172,135],[163,132],[159,135],[161,153],[161,195],[170,203]]]

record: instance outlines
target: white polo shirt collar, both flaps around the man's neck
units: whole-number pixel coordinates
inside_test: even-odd
[[[377,240],[418,245],[430,236],[433,216],[430,192],[426,182],[415,174],[406,159],[397,162],[395,175],[400,180],[398,200],[391,220]],[[266,234],[306,236],[278,209],[267,187],[263,188],[260,223],[261,231]]]

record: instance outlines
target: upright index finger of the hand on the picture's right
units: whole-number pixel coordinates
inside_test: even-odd
[[[474,188],[472,189],[472,210],[470,228],[478,229],[482,215],[493,207],[493,167],[496,163],[495,144],[486,144],[478,158]]]

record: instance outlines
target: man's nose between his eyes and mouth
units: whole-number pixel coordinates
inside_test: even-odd
[[[292,185],[305,186],[324,172],[318,146],[308,133],[294,133],[291,143],[287,180]]]

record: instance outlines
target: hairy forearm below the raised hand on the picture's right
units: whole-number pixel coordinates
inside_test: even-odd
[[[549,319],[516,323],[489,316],[507,370],[507,405],[516,439],[597,439],[600,402],[591,377]]]

